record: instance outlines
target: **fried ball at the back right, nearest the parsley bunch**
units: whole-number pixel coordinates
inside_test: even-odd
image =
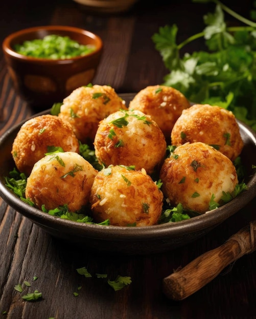
[[[174,123],[190,102],[178,90],[163,85],[148,86],[139,91],[129,104],[129,110],[148,114],[159,125],[167,140]]]

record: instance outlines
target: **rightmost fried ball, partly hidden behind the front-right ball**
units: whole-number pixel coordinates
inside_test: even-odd
[[[203,142],[214,146],[234,161],[242,151],[243,140],[234,114],[208,104],[195,104],[184,110],[171,133],[172,145]]]

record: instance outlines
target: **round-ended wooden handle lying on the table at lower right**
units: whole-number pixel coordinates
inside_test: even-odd
[[[165,295],[183,300],[213,280],[229,263],[256,249],[256,221],[232,235],[226,243],[194,259],[163,280]]]

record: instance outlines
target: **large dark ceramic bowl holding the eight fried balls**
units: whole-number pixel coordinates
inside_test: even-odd
[[[133,97],[131,94],[121,94],[120,96],[126,102],[129,102]],[[49,111],[43,113],[49,113]],[[248,126],[238,121],[244,141],[241,158],[247,171],[245,182],[248,190],[216,210],[181,222],[145,227],[99,226],[53,217],[22,202],[5,185],[5,176],[8,176],[14,168],[11,156],[12,143],[22,123],[9,129],[0,139],[0,195],[10,206],[46,232],[68,242],[82,244],[84,247],[102,252],[124,254],[168,251],[202,237],[224,220],[236,214],[256,195],[256,173],[255,170],[254,172],[252,170],[252,165],[256,163],[256,134]]]

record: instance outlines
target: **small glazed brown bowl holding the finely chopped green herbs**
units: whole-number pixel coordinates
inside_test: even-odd
[[[18,54],[15,44],[42,39],[46,35],[68,36],[80,44],[96,47],[85,56],[71,59],[39,59]],[[99,36],[63,25],[35,26],[12,33],[3,41],[3,51],[14,88],[22,99],[38,109],[46,110],[62,102],[74,89],[87,85],[97,71],[103,49]]]

